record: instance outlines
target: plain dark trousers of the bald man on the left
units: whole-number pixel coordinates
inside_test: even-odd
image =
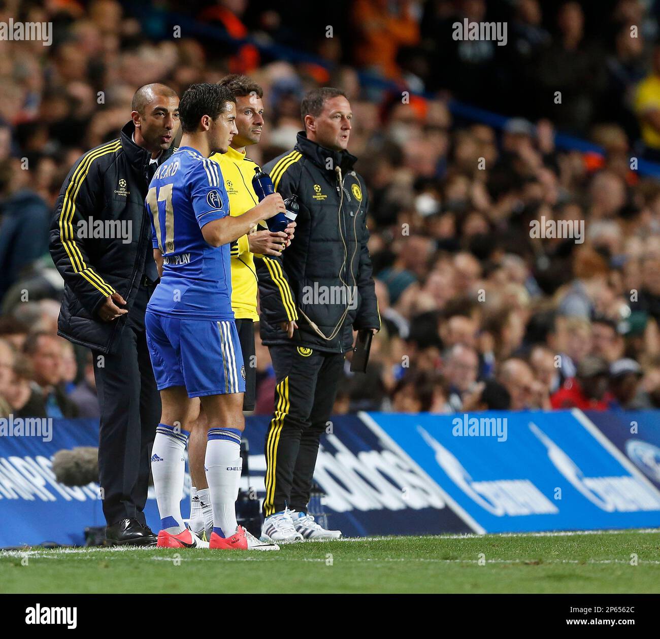
[[[149,458],[160,421],[160,394],[145,334],[145,308],[152,290],[140,288],[116,353],[93,353],[101,411],[98,475],[108,525],[126,518],[146,523]]]

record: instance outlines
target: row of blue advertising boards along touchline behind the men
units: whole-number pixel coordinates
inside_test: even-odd
[[[351,537],[658,527],[659,416],[341,415],[321,440],[315,481],[329,527]],[[242,488],[259,500],[268,424],[246,420]],[[52,420],[48,437],[0,428],[0,547],[81,545],[85,527],[104,525],[98,485],[65,487],[51,470],[58,450],[97,440],[94,420]],[[188,497],[186,478],[184,518]],[[145,514],[157,530],[152,489]]]

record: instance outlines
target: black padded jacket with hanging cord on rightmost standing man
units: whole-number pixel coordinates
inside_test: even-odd
[[[298,133],[294,149],[264,166],[275,190],[298,196],[296,233],[280,257],[255,260],[264,344],[345,353],[352,329],[380,329],[367,250],[368,197],[353,170],[356,157],[330,151]],[[295,319],[288,339],[280,323]]]

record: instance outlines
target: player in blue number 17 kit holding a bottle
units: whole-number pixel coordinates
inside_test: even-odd
[[[232,312],[230,242],[284,212],[284,201],[275,193],[243,215],[229,215],[220,166],[208,158],[226,152],[238,133],[230,90],[193,84],[180,101],[179,118],[181,147],[156,170],[146,200],[160,275],[145,314],[162,403],[151,457],[160,513],[157,546],[279,550],[236,522],[245,369]],[[208,542],[181,515],[185,448],[191,430],[201,429],[213,507]]]

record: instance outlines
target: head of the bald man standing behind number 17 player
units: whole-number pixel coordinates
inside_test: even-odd
[[[170,148],[179,132],[179,96],[166,84],[145,84],[133,96],[135,144],[152,157]]]

